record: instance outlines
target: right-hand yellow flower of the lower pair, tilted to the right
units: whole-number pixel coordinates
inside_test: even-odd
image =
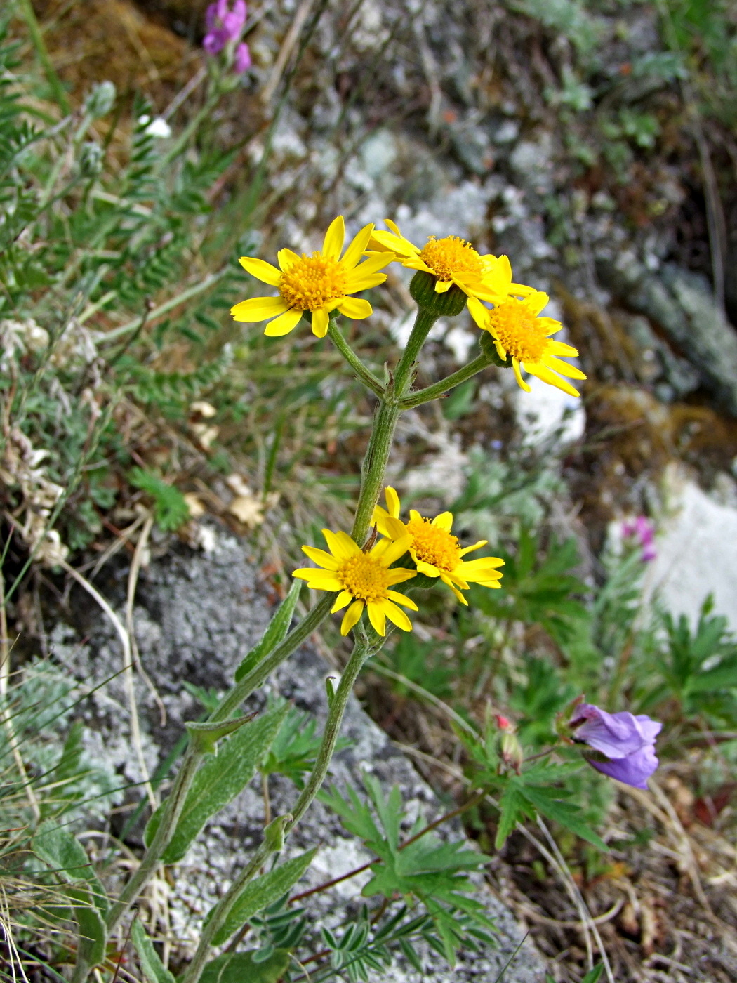
[[[395,546],[409,537],[410,555],[418,573],[439,577],[466,606],[468,601],[461,591],[467,591],[469,584],[501,587],[501,572],[497,567],[504,566],[504,560],[497,556],[463,559],[466,553],[485,547],[488,541],[480,540],[473,546],[462,548],[458,537],[450,531],[453,526],[452,512],[442,512],[430,521],[413,508],[410,510],[410,521],[405,523],[399,518],[401,502],[397,492],[387,488],[385,496],[386,508],[376,505],[371,521],[381,535],[392,540]]]

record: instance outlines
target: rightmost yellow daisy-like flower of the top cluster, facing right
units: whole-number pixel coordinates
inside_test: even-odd
[[[557,357],[578,355],[578,349],[549,337],[563,326],[559,320],[538,317],[548,300],[547,294],[537,290],[523,300],[508,297],[489,311],[480,301],[472,298],[469,301],[469,311],[479,327],[488,331],[494,339],[499,358],[506,360],[509,355],[512,356],[514,374],[526,392],[531,389],[522,377],[521,369],[571,396],[579,396],[581,393],[578,389],[561,376],[586,376],[576,366],[562,362]]]

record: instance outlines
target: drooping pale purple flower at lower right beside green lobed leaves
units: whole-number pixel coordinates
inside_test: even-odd
[[[574,711],[570,725],[575,730],[574,740],[604,756],[603,761],[587,758],[596,771],[635,788],[648,787],[648,779],[658,764],[655,737],[662,723],[627,711],[607,714],[592,703],[582,703]]]

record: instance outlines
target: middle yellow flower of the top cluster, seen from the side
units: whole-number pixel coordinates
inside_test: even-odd
[[[510,293],[533,293],[532,287],[512,283],[512,266],[506,256],[482,256],[458,236],[436,239],[430,236],[424,249],[405,239],[399,226],[385,219],[391,229],[374,230],[369,251],[391,252],[396,260],[410,269],[420,269],[436,277],[435,291],[444,294],[455,284],[469,297],[479,297],[492,304],[503,301]]]

